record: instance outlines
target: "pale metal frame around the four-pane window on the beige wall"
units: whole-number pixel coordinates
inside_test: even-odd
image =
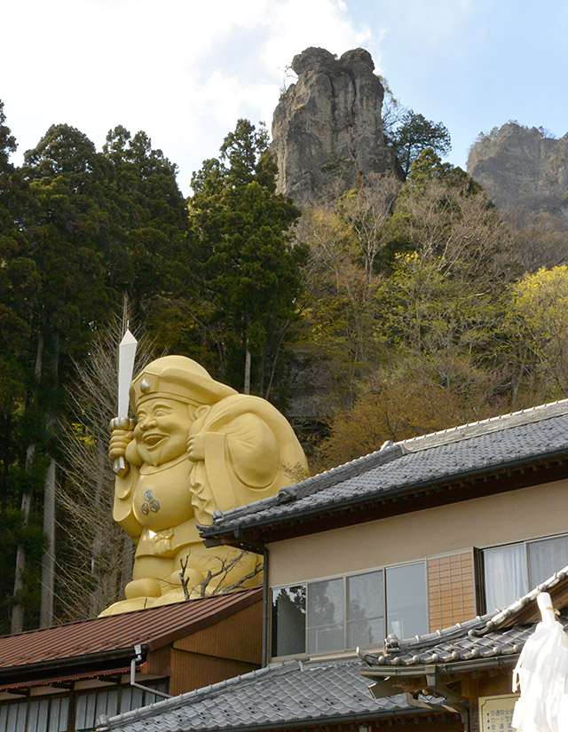
[[[383,564],[379,565],[378,567],[370,567],[366,570],[356,570],[356,571],[350,571],[350,572],[343,572],[341,574],[333,574],[333,575],[325,575],[323,577],[317,577],[313,579],[304,579],[304,580],[297,580],[295,582],[288,582],[286,584],[280,584],[280,585],[274,585],[270,586],[270,600],[268,602],[269,605],[269,613],[267,618],[267,627],[268,627],[268,634],[267,634],[267,641],[268,641],[268,657],[272,660],[275,659],[288,659],[288,658],[296,658],[296,657],[319,657],[319,656],[329,656],[329,655],[336,655],[336,654],[349,654],[355,651],[357,646],[354,646],[352,648],[347,646],[347,579],[350,577],[359,577],[361,575],[365,574],[373,574],[375,572],[382,572],[383,578],[382,578],[382,586],[383,586],[383,635],[386,637],[388,634],[388,628],[387,628],[387,586],[386,586],[386,575],[387,570],[394,569],[398,567],[405,567],[410,564],[421,564],[422,563],[422,571],[424,574],[424,586],[426,589],[425,597],[424,597],[424,607],[426,612],[426,631],[425,633],[428,633],[428,624],[429,624],[429,617],[430,617],[430,608],[429,608],[429,597],[428,597],[428,565],[427,565],[427,558],[424,557],[422,559],[412,559],[408,560],[407,562],[398,562],[394,564]],[[322,651],[310,651],[308,650],[308,586],[316,584],[318,582],[328,582],[333,579],[343,579],[343,647],[340,649],[335,650],[322,650]],[[297,653],[289,654],[287,656],[273,656],[272,655],[272,644],[274,642],[274,627],[275,627],[275,618],[274,618],[274,605],[272,601],[273,593],[286,589],[288,587],[297,587],[297,586],[304,586],[305,587],[305,597],[306,597],[306,606],[305,606],[305,618],[304,618],[304,650],[298,651]],[[384,640],[384,638],[383,638]],[[360,645],[360,648],[377,648],[381,647],[383,645],[383,640],[376,643],[367,643],[365,645]]]

